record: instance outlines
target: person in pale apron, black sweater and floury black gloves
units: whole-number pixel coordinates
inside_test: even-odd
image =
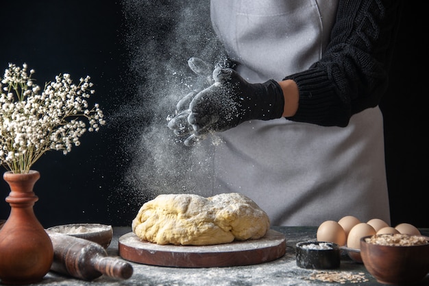
[[[317,226],[345,215],[390,223],[378,103],[399,1],[210,5],[234,71],[215,69],[217,83],[178,104],[187,110],[169,123],[187,144],[221,137],[210,146],[208,195],[243,193],[273,225]],[[190,128],[180,129],[184,118]]]

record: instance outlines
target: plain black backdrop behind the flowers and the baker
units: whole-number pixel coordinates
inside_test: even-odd
[[[408,222],[429,227],[429,144],[423,100],[428,95],[428,57],[424,51],[428,29],[424,11],[404,5],[391,83],[380,104],[392,225]],[[77,222],[130,225],[144,201],[123,180],[131,160],[124,145],[132,144],[127,141],[129,132],[134,132],[130,124],[144,126],[145,116],[138,115],[132,122],[117,116],[135,92],[129,70],[132,47],[127,45],[121,3],[3,1],[0,19],[1,77],[8,62],[26,62],[36,70],[40,86],[58,73],[70,73],[76,81],[90,75],[96,91],[90,102],[100,104],[108,121],[99,132],[86,132],[82,144],[66,156],[48,152],[34,165],[32,169],[41,174],[34,188],[39,197],[34,206],[36,216],[45,227]],[[163,27],[154,27],[142,35],[162,37],[162,32]],[[6,219],[10,212],[3,200],[9,191],[1,180],[0,219]]]

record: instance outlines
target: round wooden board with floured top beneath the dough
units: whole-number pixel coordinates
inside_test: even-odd
[[[226,267],[252,265],[279,259],[286,253],[286,238],[269,230],[255,240],[214,246],[158,245],[141,241],[134,233],[119,237],[119,255],[137,263],[169,267]]]

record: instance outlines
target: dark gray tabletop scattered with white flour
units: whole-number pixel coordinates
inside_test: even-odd
[[[64,276],[55,272],[49,272],[38,284],[32,285],[138,285],[138,286],[282,286],[282,285],[382,285],[365,270],[362,263],[351,261],[347,255],[341,256],[339,269],[330,271],[352,272],[364,274],[367,282],[352,283],[328,283],[309,280],[312,274],[319,270],[307,270],[297,267],[295,260],[295,244],[299,241],[315,239],[316,227],[273,227],[284,233],[286,237],[286,254],[275,261],[258,265],[236,267],[211,267],[211,268],[181,268],[160,267],[132,263],[133,275],[126,280],[118,280],[108,276],[100,276],[93,281],[82,281],[77,278]],[[119,257],[118,239],[126,233],[130,233],[130,227],[114,227],[114,236],[108,254]],[[429,229],[422,229],[423,235],[429,235]],[[419,285],[429,285],[429,275]]]

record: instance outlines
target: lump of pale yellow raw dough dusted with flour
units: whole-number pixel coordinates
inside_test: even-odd
[[[152,243],[207,246],[258,239],[269,225],[267,213],[240,193],[166,194],[143,204],[132,230]]]

